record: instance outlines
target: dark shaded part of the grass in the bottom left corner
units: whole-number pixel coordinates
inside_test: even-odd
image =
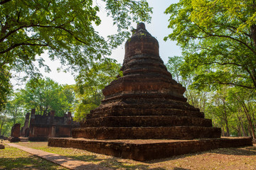
[[[0,169],[65,169],[37,157],[0,158]]]

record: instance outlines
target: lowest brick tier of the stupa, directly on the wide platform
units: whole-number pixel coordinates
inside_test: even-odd
[[[220,128],[198,126],[176,127],[129,127],[129,128],[75,128],[72,136],[97,140],[121,139],[169,139],[191,140],[198,138],[219,138]]]

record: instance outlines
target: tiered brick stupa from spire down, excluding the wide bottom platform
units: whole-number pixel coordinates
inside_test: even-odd
[[[183,97],[159,57],[159,43],[139,23],[125,45],[123,77],[103,89],[105,99],[73,137],[90,139],[195,139],[220,137],[220,128],[203,118]]]

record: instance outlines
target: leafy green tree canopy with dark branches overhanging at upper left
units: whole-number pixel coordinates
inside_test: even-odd
[[[50,71],[44,59],[36,59],[36,55],[47,50],[51,60],[58,59],[68,69],[78,71],[110,55],[111,49],[129,36],[132,21],[150,21],[151,8],[145,0],[102,2],[118,28],[108,40],[94,28],[101,22],[97,1],[0,1],[0,109],[11,91],[11,72],[26,72],[37,79],[41,74],[35,62]]]

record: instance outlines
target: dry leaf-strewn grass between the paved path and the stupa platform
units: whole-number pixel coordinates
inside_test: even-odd
[[[20,142],[18,145],[41,149],[73,159],[92,162],[93,164],[100,164],[112,169],[256,169],[256,145],[253,147],[214,149],[208,152],[185,154],[149,162],[119,159],[87,152],[82,149],[47,147],[47,142]]]

